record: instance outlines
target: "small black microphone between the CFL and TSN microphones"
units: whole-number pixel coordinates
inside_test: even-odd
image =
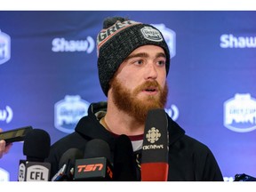
[[[83,153],[77,148],[69,148],[61,157],[59,163],[59,172],[53,177],[52,181],[71,181],[74,175],[74,166],[76,159],[83,158]]]

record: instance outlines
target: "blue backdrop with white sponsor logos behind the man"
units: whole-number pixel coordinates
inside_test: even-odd
[[[52,143],[73,132],[101,92],[96,36],[102,20],[156,25],[172,60],[166,111],[212,149],[225,180],[256,176],[256,12],[0,12],[0,127],[32,125]],[[23,143],[0,159],[0,180],[17,180]]]

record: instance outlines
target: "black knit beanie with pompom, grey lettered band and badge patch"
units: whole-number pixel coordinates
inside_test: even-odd
[[[97,36],[98,73],[102,91],[108,96],[109,81],[131,52],[142,45],[157,45],[166,54],[166,74],[170,67],[170,52],[162,33],[152,25],[122,17],[107,18]]]

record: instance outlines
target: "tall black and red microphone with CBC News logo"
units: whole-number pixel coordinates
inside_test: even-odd
[[[168,120],[164,109],[149,110],[141,152],[142,181],[166,181],[168,179],[168,138]]]

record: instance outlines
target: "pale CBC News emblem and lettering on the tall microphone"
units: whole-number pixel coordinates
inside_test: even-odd
[[[164,148],[164,145],[156,145],[154,143],[156,143],[156,141],[158,141],[161,138],[161,132],[159,132],[158,129],[156,129],[156,127],[151,127],[148,132],[146,133],[146,138],[147,138],[147,145],[143,145],[143,150],[147,150],[147,149],[161,149]],[[151,144],[154,145],[151,145]]]

